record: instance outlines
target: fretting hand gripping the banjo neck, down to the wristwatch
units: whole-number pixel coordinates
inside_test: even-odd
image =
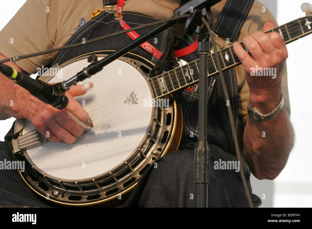
[[[263,26],[263,31],[272,28],[274,28],[274,21],[267,21]],[[250,89],[250,104],[263,113],[270,112],[280,101],[281,75],[288,57],[285,42],[278,32],[256,31],[252,36],[246,36],[243,44],[252,57],[238,42],[234,42],[233,49],[245,68]],[[256,69],[261,68],[270,68],[271,74],[257,76]],[[256,76],[251,75],[252,71]]]

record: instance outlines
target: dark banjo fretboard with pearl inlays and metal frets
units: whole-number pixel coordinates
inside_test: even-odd
[[[291,21],[282,26],[275,27],[268,32],[278,32],[284,39],[285,44],[297,40],[300,37],[312,33],[312,16],[302,17]],[[240,42],[244,49],[245,45]],[[247,50],[247,49],[246,49]],[[247,50],[248,51],[248,50]],[[233,46],[229,46],[217,52],[221,63],[222,71],[233,68],[241,61],[235,55]],[[216,59],[213,54],[208,55],[207,61],[207,77],[212,77],[218,74]],[[155,76],[149,79],[153,88],[154,98],[162,97],[176,90],[186,88],[199,80],[199,59],[194,60],[182,67],[172,69],[168,72]]]

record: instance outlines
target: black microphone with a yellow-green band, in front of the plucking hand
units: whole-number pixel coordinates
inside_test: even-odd
[[[0,64],[0,72],[46,104],[50,104],[59,110],[65,109],[68,104],[65,92],[60,92],[59,83],[50,85],[41,80],[32,79],[5,64]]]

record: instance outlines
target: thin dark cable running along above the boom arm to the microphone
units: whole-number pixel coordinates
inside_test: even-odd
[[[162,24],[162,23],[165,23],[165,22],[168,22],[168,21],[175,21],[175,20],[179,21],[179,20],[181,20],[183,18],[187,18],[188,16],[189,16],[189,14],[184,14],[184,15],[180,15],[180,16],[177,16],[177,17],[170,17],[170,18],[165,19],[165,20],[155,21],[155,22],[151,22],[149,24],[136,26],[136,27],[133,27],[133,28],[130,28],[130,29],[118,31],[118,32],[115,32],[115,33],[111,33],[111,34],[108,34],[108,35],[100,36],[100,37],[97,37],[97,38],[85,41],[85,44],[77,43],[77,44],[73,44],[73,45],[66,45],[66,46],[55,48],[55,49],[49,49],[49,50],[46,50],[46,51],[32,53],[32,54],[28,54],[28,55],[14,56],[14,57],[11,57],[11,58],[7,58],[5,60],[1,60],[0,64],[8,62],[8,61],[11,61],[11,60],[13,60],[13,58],[15,58],[15,60],[17,61],[17,60],[24,59],[24,58],[44,55],[44,54],[51,53],[51,52],[56,52],[56,51],[60,51],[60,50],[64,50],[64,49],[70,49],[70,48],[78,47],[80,45],[86,45],[86,44],[89,44],[89,43],[92,43],[92,42],[95,42],[95,41],[100,41],[100,40],[103,40],[103,39],[106,39],[106,38],[110,38],[112,36],[117,36],[119,34],[123,34],[123,33],[129,32],[129,31],[139,30],[139,29],[143,29],[143,28],[146,28],[146,27],[149,27],[149,26],[159,25],[159,24]]]

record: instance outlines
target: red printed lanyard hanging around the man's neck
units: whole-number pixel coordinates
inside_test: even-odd
[[[117,12],[119,15],[119,24],[123,30],[130,29],[131,27],[127,25],[124,20],[120,17],[120,11],[124,5],[125,0],[118,0],[117,2]],[[120,7],[120,8],[119,8]],[[135,38],[139,37],[140,35],[136,33],[135,31],[130,31],[126,33],[132,40]],[[155,48],[153,45],[151,45],[149,42],[145,41],[140,45],[144,50],[149,52],[150,54],[154,55],[157,59],[162,55],[162,52],[160,52],[157,48]],[[189,45],[188,47],[185,47],[183,49],[175,50],[174,51],[174,57],[181,57],[181,56],[186,56],[192,52],[194,52],[197,49],[197,37],[196,41],[192,44]]]

